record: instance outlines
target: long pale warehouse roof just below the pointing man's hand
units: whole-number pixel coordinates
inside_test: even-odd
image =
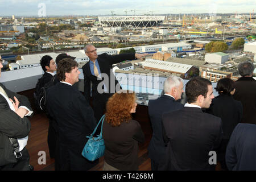
[[[193,65],[172,63],[168,61],[160,61],[155,59],[147,59],[142,64],[143,67],[162,69],[170,72],[187,73]]]

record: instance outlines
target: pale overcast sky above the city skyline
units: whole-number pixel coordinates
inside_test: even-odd
[[[0,0],[0,16],[252,13],[256,0]],[[132,11],[131,11],[132,10]]]

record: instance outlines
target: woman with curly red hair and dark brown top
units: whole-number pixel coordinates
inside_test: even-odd
[[[105,171],[138,170],[138,142],[144,142],[141,125],[131,118],[137,103],[135,93],[121,90],[106,104],[103,138]]]

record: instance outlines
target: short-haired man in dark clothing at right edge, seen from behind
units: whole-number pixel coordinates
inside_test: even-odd
[[[254,69],[251,61],[244,61],[238,65],[242,77],[235,81],[234,99],[242,102],[242,123],[256,124],[256,80],[252,77]]]

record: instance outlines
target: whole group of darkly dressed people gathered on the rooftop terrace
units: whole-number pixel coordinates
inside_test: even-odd
[[[146,54],[97,55],[91,44],[84,51],[90,59],[82,67],[84,95],[73,86],[80,75],[75,57],[61,53],[55,61],[50,56],[43,56],[40,61],[42,80],[54,81],[54,86],[47,89],[45,112],[49,119],[49,154],[55,159],[55,170],[89,170],[98,164],[98,159],[91,162],[81,152],[88,140],[86,136],[93,132],[103,114],[103,169],[138,170],[138,143],[144,142],[144,134],[139,122],[132,118],[137,98],[134,92],[122,90],[117,80],[112,83],[104,74],[114,77],[112,64],[142,59]],[[176,76],[164,81],[164,94],[148,102],[152,126],[148,156],[152,171],[214,170],[216,161],[226,170],[256,170],[254,65],[245,61],[238,70],[241,78],[236,82],[222,78],[216,88],[201,77],[191,78],[186,85]],[[213,89],[219,94],[215,98]],[[184,95],[186,101],[181,104]],[[5,146],[0,147],[0,170],[31,170],[25,147],[31,127],[27,117],[33,112],[30,103],[2,84],[0,99],[0,143]],[[213,153],[213,158],[212,151],[217,154]]]

